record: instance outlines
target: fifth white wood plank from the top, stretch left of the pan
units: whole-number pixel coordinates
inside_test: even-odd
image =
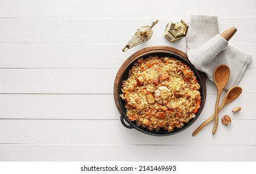
[[[0,118],[119,119],[120,116],[112,94],[1,94],[0,98]]]

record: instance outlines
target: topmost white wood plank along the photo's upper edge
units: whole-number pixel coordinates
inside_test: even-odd
[[[220,17],[255,16],[255,1],[92,1],[92,0],[40,0],[1,1],[0,17],[173,17],[190,14]],[[231,7],[230,7],[231,6]],[[142,7],[146,7],[143,9]],[[228,8],[227,8],[228,7]],[[96,10],[97,9],[97,10]]]

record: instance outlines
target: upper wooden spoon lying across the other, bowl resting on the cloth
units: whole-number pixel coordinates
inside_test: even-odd
[[[229,81],[230,70],[229,66],[227,65],[219,65],[214,70],[214,82],[217,87],[217,99],[215,103],[215,111],[214,111],[214,129],[212,129],[212,134],[215,134],[217,131],[218,123],[219,123],[219,102],[220,102],[220,94],[222,93],[223,89],[227,85],[227,81]]]

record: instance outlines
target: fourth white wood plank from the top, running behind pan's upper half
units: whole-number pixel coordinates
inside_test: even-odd
[[[0,69],[0,93],[82,93],[112,94],[117,69]],[[248,68],[239,85],[244,94],[256,93]],[[207,93],[215,94],[216,87],[207,81]]]

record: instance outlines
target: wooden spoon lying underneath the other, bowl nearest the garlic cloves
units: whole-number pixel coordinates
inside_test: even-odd
[[[233,88],[230,88],[229,91],[227,91],[227,94],[225,95],[222,101],[222,104],[220,104],[218,113],[221,111],[222,108],[224,108],[224,106],[226,106],[227,104],[231,103],[236,98],[238,98],[241,93],[242,93],[242,88],[240,86],[234,86]],[[213,119],[214,119],[214,114],[212,114],[212,116],[210,116],[207,120],[205,120],[202,124],[200,124],[200,126],[197,129],[195,129],[192,135],[193,136],[197,135],[197,133],[200,132]]]

